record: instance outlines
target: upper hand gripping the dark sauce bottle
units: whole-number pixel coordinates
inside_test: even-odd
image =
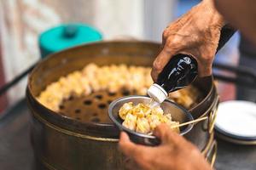
[[[212,61],[218,47],[224,20],[212,0],[204,0],[174,21],[163,32],[162,50],[153,64],[151,76],[159,73],[175,54],[190,54],[197,60],[200,77],[212,74]]]

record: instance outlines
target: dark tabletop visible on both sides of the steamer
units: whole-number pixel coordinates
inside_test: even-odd
[[[30,115],[26,101],[6,111],[0,118],[0,169],[35,169],[29,138]],[[256,146],[242,146],[218,139],[218,170],[255,170]]]

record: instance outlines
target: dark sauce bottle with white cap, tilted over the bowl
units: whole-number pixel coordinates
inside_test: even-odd
[[[236,30],[224,26],[221,30],[217,51],[222,48]],[[177,54],[170,59],[157,81],[148,88],[148,95],[158,103],[162,103],[168,93],[185,88],[197,77],[196,59],[188,54]]]

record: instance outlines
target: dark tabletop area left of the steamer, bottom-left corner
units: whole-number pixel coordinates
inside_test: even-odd
[[[26,101],[20,101],[0,116],[0,169],[34,169]]]

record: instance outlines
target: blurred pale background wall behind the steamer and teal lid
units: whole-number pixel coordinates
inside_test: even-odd
[[[161,41],[162,31],[198,0],[0,0],[0,86],[40,59],[38,37],[52,27],[84,23],[104,40],[136,38]],[[236,65],[239,33],[219,52],[216,61]],[[48,42],[55,46],[55,42]],[[229,90],[224,90],[228,87]],[[23,98],[26,78],[2,95],[0,110]],[[219,85],[222,99],[233,99],[235,87]]]

